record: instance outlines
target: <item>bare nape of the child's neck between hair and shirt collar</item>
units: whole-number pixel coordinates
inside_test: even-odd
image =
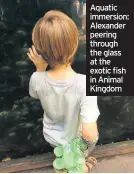
[[[48,71],[48,76],[57,81],[66,81],[76,75],[71,66],[59,66]]]

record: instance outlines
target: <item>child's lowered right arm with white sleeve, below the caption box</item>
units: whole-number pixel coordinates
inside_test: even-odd
[[[88,144],[88,155],[94,149],[98,141],[97,119],[100,112],[97,105],[97,96],[86,96],[81,98],[82,137]]]

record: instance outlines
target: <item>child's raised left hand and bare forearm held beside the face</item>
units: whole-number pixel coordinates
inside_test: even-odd
[[[45,71],[46,70],[48,64],[42,58],[42,56],[37,53],[34,46],[32,46],[32,48],[29,48],[29,53],[27,53],[27,55],[31,59],[31,61],[34,63],[34,65],[36,66],[37,71]]]

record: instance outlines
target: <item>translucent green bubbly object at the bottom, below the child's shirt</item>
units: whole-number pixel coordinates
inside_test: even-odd
[[[84,173],[84,151],[87,148],[81,137],[74,138],[67,145],[56,147],[53,167],[57,170],[65,169],[68,173]]]

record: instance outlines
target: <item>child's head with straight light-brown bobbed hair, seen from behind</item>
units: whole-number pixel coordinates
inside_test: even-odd
[[[52,10],[36,23],[32,40],[51,68],[73,62],[78,48],[78,29],[72,19]]]

